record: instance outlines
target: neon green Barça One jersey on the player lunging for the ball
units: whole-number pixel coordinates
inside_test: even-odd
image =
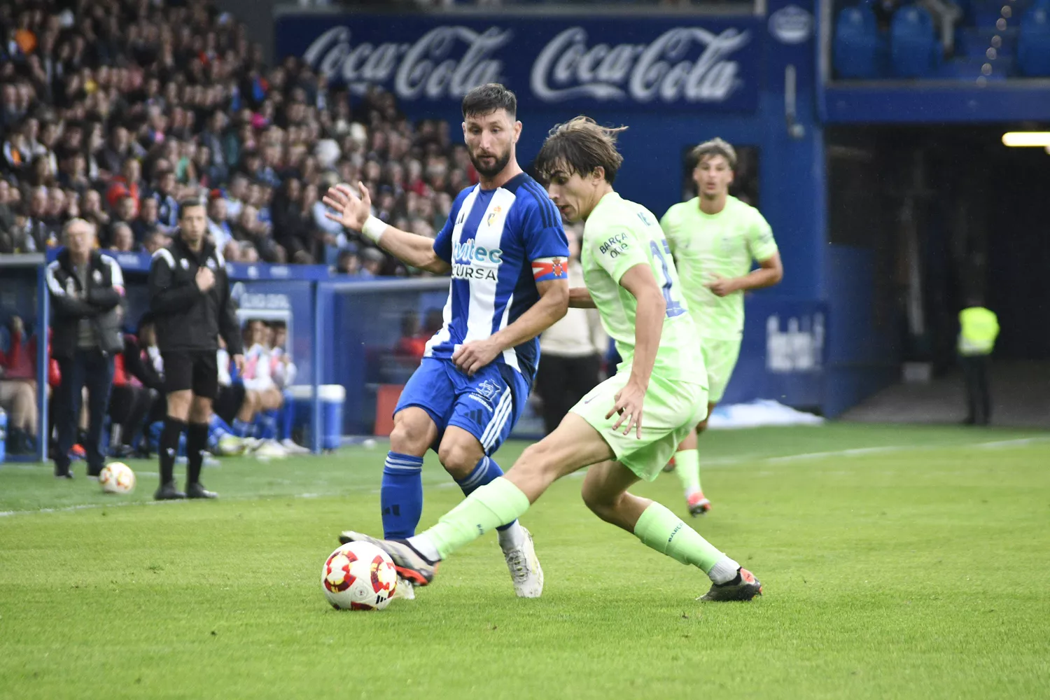
[[[581,261],[584,283],[597,306],[602,325],[615,340],[623,359],[621,369],[628,367],[634,357],[637,300],[620,285],[620,279],[634,266],[647,264],[667,301],[653,374],[707,385],[696,328],[678,289],[671,251],[652,212],[615,192],[606,194],[587,217]]]

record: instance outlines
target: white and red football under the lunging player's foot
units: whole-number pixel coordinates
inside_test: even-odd
[[[321,570],[324,597],[336,610],[382,610],[397,589],[390,554],[366,542],[352,542],[329,555]]]

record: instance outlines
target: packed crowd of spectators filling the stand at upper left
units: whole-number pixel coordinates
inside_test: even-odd
[[[319,193],[361,181],[376,216],[433,237],[478,178],[447,123],[295,58],[267,66],[205,0],[9,0],[0,30],[0,254],[57,247],[77,216],[103,248],[152,253],[203,196],[227,260],[414,274],[327,219]]]

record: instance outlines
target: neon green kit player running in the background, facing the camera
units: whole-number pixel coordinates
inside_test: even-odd
[[[708,427],[733,375],[743,337],[743,293],[773,287],[783,278],[773,230],[754,207],[729,193],[736,151],[721,139],[693,149],[697,196],[674,205],[660,219],[689,313],[699,333],[708,370],[708,412],[674,455],[674,470],[686,491],[692,516],[706,513],[711,502],[700,489],[696,439]],[[752,260],[758,270],[752,271]]]

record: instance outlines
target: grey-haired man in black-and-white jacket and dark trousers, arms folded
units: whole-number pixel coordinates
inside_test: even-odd
[[[69,450],[80,413],[81,389],[86,386],[87,473],[98,476],[104,461],[102,424],[113,380],[113,354],[124,348],[120,333],[124,277],[111,257],[96,250],[94,228],[84,219],[70,219],[62,237],[65,248],[45,273],[54,310],[51,353],[62,376],[55,401],[55,475],[72,479]]]

